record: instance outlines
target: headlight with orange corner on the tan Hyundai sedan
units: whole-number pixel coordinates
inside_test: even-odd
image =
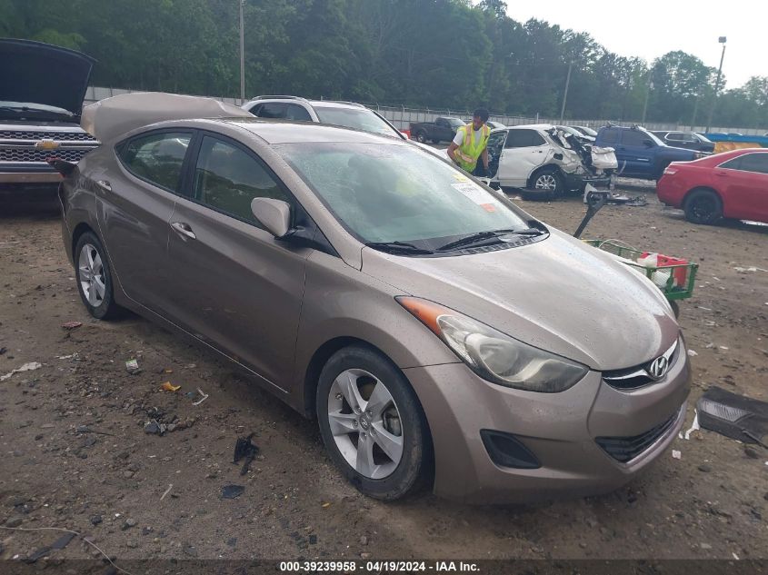
[[[518,342],[489,325],[434,302],[398,297],[469,368],[488,382],[528,392],[563,392],[589,371],[581,363]]]

